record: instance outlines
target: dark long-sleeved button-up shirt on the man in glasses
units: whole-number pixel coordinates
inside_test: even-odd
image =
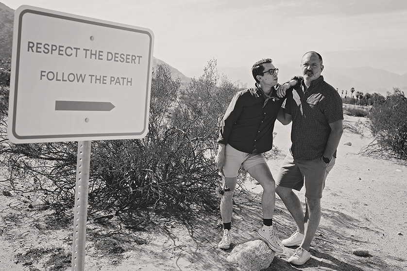
[[[229,143],[246,153],[271,150],[274,122],[284,101],[272,91],[276,98],[269,99],[264,107],[266,98],[257,86],[237,92],[220,123],[218,143]]]

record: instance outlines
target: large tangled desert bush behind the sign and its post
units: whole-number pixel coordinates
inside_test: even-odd
[[[89,203],[93,211],[131,213],[140,209],[218,209],[220,177],[214,164],[218,123],[237,87],[223,78],[216,61],[180,89],[170,68],[153,70],[149,132],[139,140],[92,142]],[[8,88],[1,88],[1,119],[7,118]],[[226,102],[227,101],[227,102]],[[1,123],[1,163],[11,189],[36,193],[49,206],[74,203],[76,142],[12,144]],[[22,188],[15,183],[23,180]]]

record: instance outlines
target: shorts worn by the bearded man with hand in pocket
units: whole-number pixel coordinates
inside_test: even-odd
[[[297,191],[305,185],[305,197],[322,198],[326,176],[334,167],[335,160],[333,157],[329,164],[326,164],[322,157],[314,160],[299,160],[288,153],[278,171],[275,184]]]

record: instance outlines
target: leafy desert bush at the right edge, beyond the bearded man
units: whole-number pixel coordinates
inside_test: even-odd
[[[382,103],[374,104],[369,115],[375,142],[364,151],[407,159],[407,98],[398,88],[393,89]]]

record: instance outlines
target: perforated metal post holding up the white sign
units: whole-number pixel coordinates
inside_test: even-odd
[[[91,141],[78,142],[76,163],[75,207],[73,218],[72,271],[85,269],[87,196],[89,189]]]

